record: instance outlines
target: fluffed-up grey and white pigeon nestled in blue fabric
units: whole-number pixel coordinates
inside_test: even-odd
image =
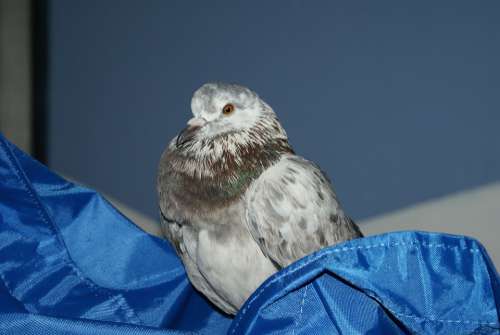
[[[255,92],[207,83],[191,110],[160,158],[161,228],[193,286],[223,312],[236,314],[296,260],[363,236]]]

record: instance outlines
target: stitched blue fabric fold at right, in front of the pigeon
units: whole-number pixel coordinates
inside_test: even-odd
[[[280,323],[281,329],[306,334],[285,320],[321,316],[323,329],[333,334],[495,334],[500,324],[493,287],[499,278],[492,271],[486,251],[471,238],[426,232],[371,236],[323,249],[269,278],[229,333],[257,334]],[[314,290],[307,291],[311,285]],[[306,292],[309,298],[300,303],[292,298]]]

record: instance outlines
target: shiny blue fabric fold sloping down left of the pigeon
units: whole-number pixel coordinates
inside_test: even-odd
[[[27,311],[186,331],[227,329],[231,320],[194,291],[165,241],[3,137],[0,180],[0,278]]]

